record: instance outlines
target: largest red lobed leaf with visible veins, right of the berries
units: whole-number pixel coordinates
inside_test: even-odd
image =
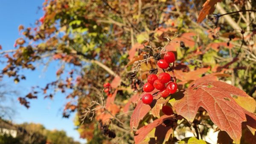
[[[247,97],[241,89],[221,81],[206,81],[195,83],[183,91],[182,98],[171,101],[178,115],[190,123],[194,120],[199,107],[203,107],[221,130],[239,143],[241,138],[241,123],[246,121],[245,112],[231,95]],[[250,113],[250,112],[249,112]]]

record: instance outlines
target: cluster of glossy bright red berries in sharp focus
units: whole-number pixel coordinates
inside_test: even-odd
[[[167,52],[163,59],[157,61],[157,66],[161,69],[167,69],[170,63],[175,62],[175,55],[173,52]],[[154,89],[160,90],[160,95],[166,98],[168,95],[173,94],[177,91],[177,84],[172,81],[171,75],[166,72],[162,72],[158,75],[148,75],[147,83],[143,86],[144,92],[152,92]],[[144,104],[151,104],[153,96],[149,93],[142,96],[142,102]]]

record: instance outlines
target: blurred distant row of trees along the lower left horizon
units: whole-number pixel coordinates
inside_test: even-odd
[[[23,123],[12,124],[0,119],[0,129],[16,130],[17,136],[13,137],[1,131],[0,144],[80,144],[68,137],[63,130],[47,130],[41,124]]]

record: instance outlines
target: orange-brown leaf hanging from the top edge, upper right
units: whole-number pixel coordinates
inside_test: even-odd
[[[211,14],[215,10],[215,4],[220,1],[221,0],[207,0],[198,15],[197,22],[201,23],[208,14]]]

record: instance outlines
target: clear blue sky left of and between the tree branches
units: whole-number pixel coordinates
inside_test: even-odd
[[[15,40],[20,37],[18,26],[32,26],[35,20],[43,16],[42,9],[38,9],[44,0],[0,0],[0,45],[3,50],[14,49]],[[3,65],[0,65],[3,68]],[[11,89],[17,89],[18,95],[14,95],[14,104],[16,110],[12,120],[15,123],[34,122],[43,124],[47,129],[65,130],[67,135],[75,140],[85,142],[79,138],[79,133],[74,130],[73,118],[62,118],[62,108],[67,102],[65,95],[57,93],[53,100],[44,99],[44,95],[38,95],[38,99],[31,101],[31,108],[26,109],[20,106],[16,101],[18,96],[26,95],[31,86],[45,86],[47,83],[56,79],[55,72],[58,69],[58,63],[52,63],[45,71],[43,66],[38,66],[37,70],[23,70],[26,81],[20,81],[14,84],[12,78],[4,78],[3,82],[9,85]]]

